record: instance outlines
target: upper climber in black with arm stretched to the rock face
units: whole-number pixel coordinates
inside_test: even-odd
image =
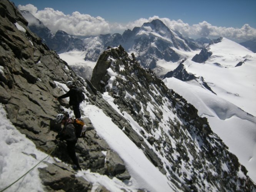
[[[81,118],[81,113],[79,109],[80,101],[77,99],[77,88],[73,85],[72,81],[66,82],[66,86],[70,89],[66,94],[59,96],[58,99],[63,99],[69,97],[69,105],[72,106],[75,118]]]

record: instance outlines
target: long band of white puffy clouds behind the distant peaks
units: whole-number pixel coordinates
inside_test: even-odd
[[[182,20],[170,20],[169,18],[159,18],[153,16],[148,19],[140,18],[126,25],[121,23],[109,23],[101,17],[92,17],[87,14],[73,12],[71,15],[65,15],[63,12],[45,8],[38,10],[37,7],[28,4],[19,5],[20,10],[27,10],[36,18],[44,23],[53,33],[57,30],[63,30],[71,35],[100,35],[107,33],[123,33],[123,31],[132,30],[135,26],[141,26],[145,22],[151,22],[154,19],[162,20],[171,30],[179,31],[183,36],[199,38],[201,36],[209,38],[218,38],[220,36],[232,40],[251,40],[256,38],[256,29],[248,24],[241,28],[213,26],[204,21],[198,24],[189,25]]]

